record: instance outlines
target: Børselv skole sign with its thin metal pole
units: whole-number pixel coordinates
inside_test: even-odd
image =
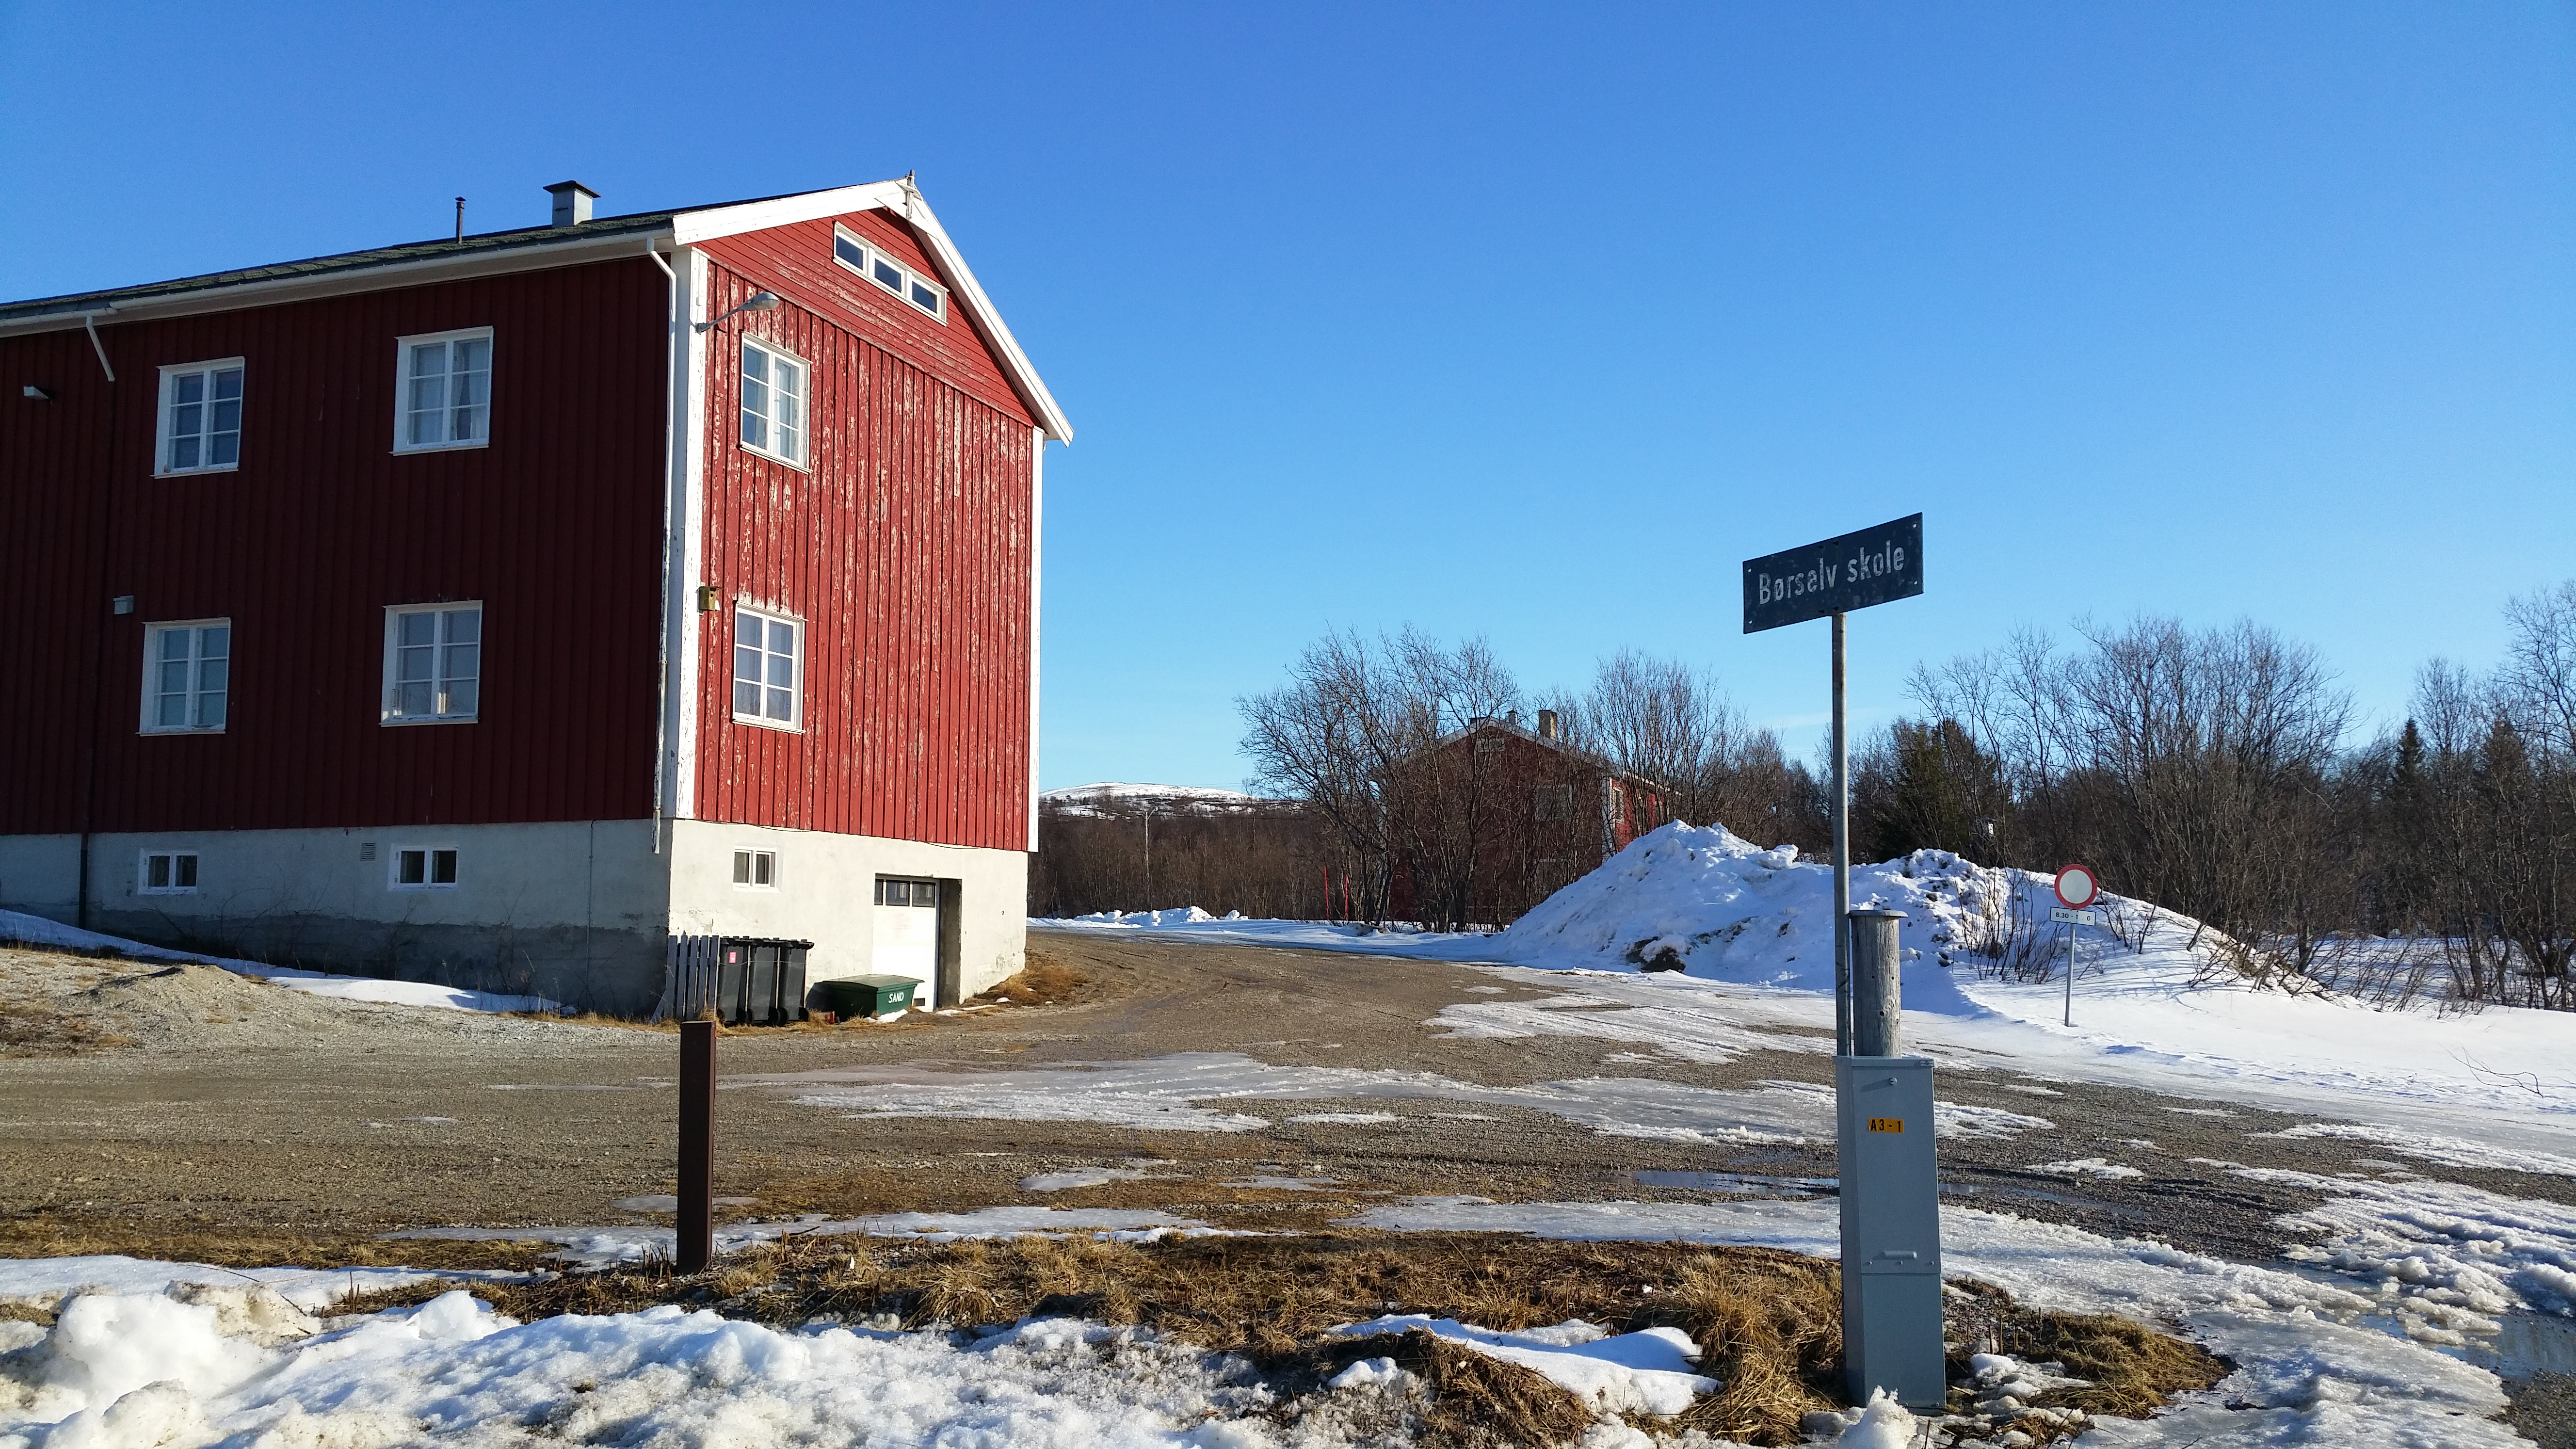
[[[1844,714],[1844,616],[1922,590],[1922,513],[1744,559],[1747,634],[1808,619],[1834,621],[1834,1052],[1844,1057],[1852,1055],[1852,740]]]

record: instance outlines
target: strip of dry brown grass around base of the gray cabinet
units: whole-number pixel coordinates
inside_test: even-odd
[[[435,1284],[379,1294],[420,1302]],[[1244,1354],[1283,1403],[1352,1359],[1394,1356],[1430,1387],[1422,1441],[1486,1449],[1564,1444],[1589,1410],[1543,1377],[1425,1333],[1365,1341],[1329,1328],[1427,1312],[1484,1328],[1587,1318],[1613,1330],[1674,1325],[1703,1346],[1723,1387],[1674,1428],[1744,1444],[1798,1444],[1798,1418],[1842,1403],[1842,1287],[1834,1263],[1767,1248],[1677,1243],[1548,1243],[1473,1232],[1314,1232],[1185,1238],[1149,1245],[1092,1238],[886,1243],[791,1238],[698,1276],[667,1266],[477,1287],[513,1318],[631,1312],[659,1302],[716,1307],[775,1325],[817,1315],[891,1315],[909,1328],[1074,1315],[1141,1323],[1200,1348]],[[2050,1397],[2087,1413],[2143,1415],[2226,1374],[2210,1354],[2151,1328],[2025,1310],[2002,1289],[1955,1299],[1955,1328],[2004,1354],[2066,1364],[2089,1390]],[[353,1305],[358,1307],[358,1305]],[[1953,1366],[1965,1377],[1965,1364]]]

